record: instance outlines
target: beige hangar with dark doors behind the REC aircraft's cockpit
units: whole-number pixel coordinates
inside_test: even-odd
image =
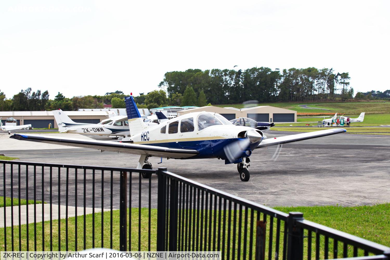
[[[249,117],[257,122],[296,122],[296,111],[275,106],[255,106],[253,108],[220,108],[218,106],[202,106],[189,110],[181,110],[177,115],[184,115],[190,112],[216,112],[228,120],[238,117]]]

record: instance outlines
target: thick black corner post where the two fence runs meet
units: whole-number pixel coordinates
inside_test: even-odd
[[[157,170],[157,251],[165,251],[165,210],[167,205],[166,196],[166,178],[162,172],[167,168],[159,167]]]

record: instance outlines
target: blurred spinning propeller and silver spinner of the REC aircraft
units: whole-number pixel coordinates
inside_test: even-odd
[[[238,139],[223,147],[223,151],[230,163],[234,163],[238,158],[249,156],[251,154],[250,144],[261,141],[262,136],[255,130],[248,130],[245,138]]]

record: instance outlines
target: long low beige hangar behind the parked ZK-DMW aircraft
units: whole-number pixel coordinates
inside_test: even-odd
[[[97,124],[108,118],[106,111],[64,111],[64,113],[74,122],[91,124]],[[51,123],[53,128],[58,128],[51,111],[0,111],[0,117],[3,124],[5,119],[13,117],[18,122],[18,126],[31,124],[35,128],[45,128]]]

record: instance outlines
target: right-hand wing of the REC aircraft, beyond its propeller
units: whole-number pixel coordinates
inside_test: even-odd
[[[339,134],[339,133],[344,133],[346,131],[347,130],[343,128],[335,128],[335,129],[326,129],[326,130],[315,131],[310,133],[291,134],[291,135],[286,135],[281,137],[275,137],[272,139],[270,138],[261,141],[261,143],[257,145],[256,149],[262,147],[268,147],[272,145],[292,143],[296,141],[302,141],[302,140],[307,140],[307,139],[312,139],[312,138],[317,138],[317,137],[327,136],[332,134]]]

